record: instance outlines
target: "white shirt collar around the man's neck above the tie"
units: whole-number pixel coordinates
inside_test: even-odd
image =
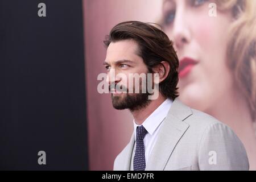
[[[168,114],[168,111],[170,110],[171,105],[172,105],[172,100],[170,100],[170,98],[167,98],[142,123],[142,125],[144,126],[144,128],[147,130],[147,132],[150,135],[154,134],[155,130],[158,128],[160,123],[162,123],[163,119],[166,118],[166,116]],[[141,126],[141,125],[137,125],[135,123],[134,119],[133,119],[133,123],[134,123],[134,134],[135,134],[135,139],[136,139],[136,129],[137,129],[137,126]]]

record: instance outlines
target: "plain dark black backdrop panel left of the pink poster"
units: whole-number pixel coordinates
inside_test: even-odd
[[[0,169],[88,169],[82,2],[0,0],[0,24]]]

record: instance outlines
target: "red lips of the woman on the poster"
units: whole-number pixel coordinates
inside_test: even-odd
[[[194,59],[191,59],[189,57],[184,57],[180,61],[179,65],[179,77],[183,78],[188,75],[189,72],[191,72],[192,68],[198,63],[199,61],[196,61]]]

